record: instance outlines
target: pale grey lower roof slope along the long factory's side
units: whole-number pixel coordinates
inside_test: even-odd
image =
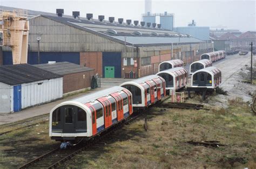
[[[112,36],[123,40],[124,36]],[[172,44],[172,43],[199,43],[201,40],[196,38],[169,38],[169,37],[126,37],[126,42],[134,45],[140,44]]]

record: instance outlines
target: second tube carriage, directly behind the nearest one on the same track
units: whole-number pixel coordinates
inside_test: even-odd
[[[131,92],[133,108],[145,108],[166,95],[165,80],[158,75],[145,76],[120,86]]]

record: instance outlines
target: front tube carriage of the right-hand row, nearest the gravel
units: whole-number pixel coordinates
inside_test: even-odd
[[[192,87],[215,89],[221,83],[221,71],[216,67],[207,67],[194,72],[191,76]]]

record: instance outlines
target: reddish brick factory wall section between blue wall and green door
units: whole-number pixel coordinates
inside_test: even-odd
[[[80,52],[80,65],[93,68],[102,76],[102,52]]]

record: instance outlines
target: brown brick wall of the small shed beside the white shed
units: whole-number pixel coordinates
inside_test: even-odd
[[[95,71],[67,74],[63,77],[63,93],[91,87],[91,78]]]

